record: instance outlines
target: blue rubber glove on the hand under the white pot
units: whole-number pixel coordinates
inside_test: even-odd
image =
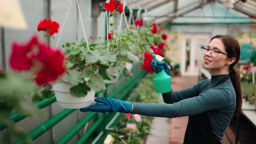
[[[132,110],[131,101],[123,101],[123,100],[118,100],[113,98],[96,98],[95,101],[100,104],[84,107],[80,109],[80,111],[129,113]]]

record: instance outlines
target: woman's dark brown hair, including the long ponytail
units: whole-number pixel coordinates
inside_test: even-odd
[[[235,57],[236,61],[232,63],[229,67],[229,75],[232,81],[232,85],[236,91],[236,110],[235,115],[239,115],[241,113],[242,107],[242,96],[241,96],[241,86],[240,86],[240,79],[239,76],[236,74],[236,70],[233,68],[234,65],[240,59],[240,45],[236,39],[230,37],[229,35],[215,35],[213,39],[220,39],[225,46],[225,50],[228,53],[228,57]]]

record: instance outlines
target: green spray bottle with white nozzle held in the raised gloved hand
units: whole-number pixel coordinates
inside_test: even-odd
[[[153,55],[152,61],[158,62],[164,59],[159,55]],[[172,91],[172,77],[165,73],[163,69],[153,79],[156,93],[167,93]]]

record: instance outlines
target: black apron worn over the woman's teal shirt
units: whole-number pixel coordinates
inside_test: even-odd
[[[223,77],[214,87],[228,80],[229,76]],[[208,85],[206,85],[208,86]],[[211,144],[220,143],[212,133],[207,112],[189,116],[189,121],[184,137],[184,144]]]

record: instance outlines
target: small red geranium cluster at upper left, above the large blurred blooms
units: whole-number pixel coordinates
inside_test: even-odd
[[[46,31],[48,30],[50,35],[59,32],[60,25],[56,21],[51,21],[51,19],[41,20],[37,26],[37,31]]]

